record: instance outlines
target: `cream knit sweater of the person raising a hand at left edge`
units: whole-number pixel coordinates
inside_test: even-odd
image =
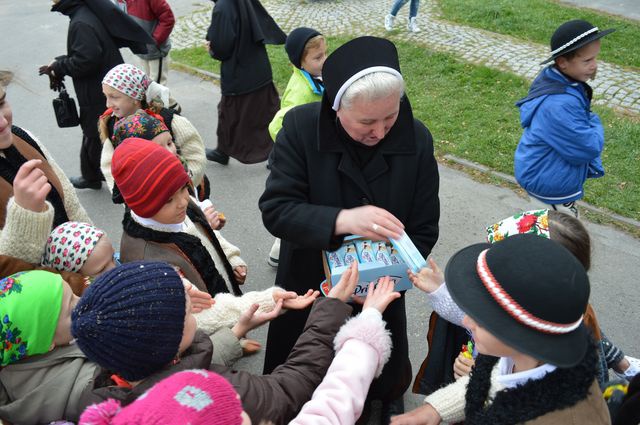
[[[64,171],[56,164],[49,151],[31,133],[47,162],[58,176],[64,192],[64,207],[69,220],[91,223],[87,212],[80,204],[78,195]],[[33,212],[22,208],[11,197],[7,203],[4,229],[0,229],[0,254],[11,255],[29,263],[40,264],[44,246],[53,226],[53,206],[45,202],[46,210]]]

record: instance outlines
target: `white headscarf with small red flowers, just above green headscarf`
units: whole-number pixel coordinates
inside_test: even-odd
[[[88,223],[62,223],[51,231],[41,264],[60,271],[78,272],[103,235],[103,230]]]

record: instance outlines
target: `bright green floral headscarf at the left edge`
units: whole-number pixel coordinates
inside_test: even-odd
[[[62,305],[62,277],[33,270],[0,280],[0,366],[49,351]]]

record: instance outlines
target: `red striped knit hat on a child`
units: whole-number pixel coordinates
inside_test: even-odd
[[[150,218],[189,183],[180,160],[144,139],[125,139],[114,151],[111,173],[125,203],[140,217]]]

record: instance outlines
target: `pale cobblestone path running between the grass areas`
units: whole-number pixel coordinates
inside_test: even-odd
[[[310,26],[331,35],[384,35],[386,31],[383,18],[390,7],[389,0],[312,3],[263,0],[262,3],[285,31]],[[175,48],[202,44],[209,26],[212,6],[209,2],[198,4],[202,6],[199,11],[178,20],[172,35]],[[396,19],[394,36],[437,51],[453,53],[472,63],[510,71],[529,80],[542,68],[540,61],[549,56],[548,46],[440,20],[432,1],[423,1],[420,6],[419,21],[422,31],[406,31],[408,7],[404,7]],[[591,84],[596,93],[595,103],[640,113],[640,72],[637,70],[600,61],[598,77]]]

